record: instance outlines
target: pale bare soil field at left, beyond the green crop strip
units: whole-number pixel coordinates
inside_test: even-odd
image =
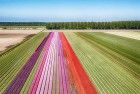
[[[0,52],[11,45],[20,43],[28,35],[36,34],[41,30],[0,30]]]

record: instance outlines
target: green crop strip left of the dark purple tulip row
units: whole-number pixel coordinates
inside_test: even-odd
[[[0,57],[0,92],[14,79],[44,36],[44,33],[39,33]]]

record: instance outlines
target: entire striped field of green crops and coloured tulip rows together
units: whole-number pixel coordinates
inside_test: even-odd
[[[0,94],[140,94],[140,40],[126,36],[40,32],[0,56]]]

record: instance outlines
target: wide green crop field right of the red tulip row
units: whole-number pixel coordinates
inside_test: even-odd
[[[99,93],[140,93],[139,40],[102,32],[65,34]]]

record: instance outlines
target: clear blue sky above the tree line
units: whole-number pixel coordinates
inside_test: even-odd
[[[140,20],[140,0],[0,0],[0,21]]]

